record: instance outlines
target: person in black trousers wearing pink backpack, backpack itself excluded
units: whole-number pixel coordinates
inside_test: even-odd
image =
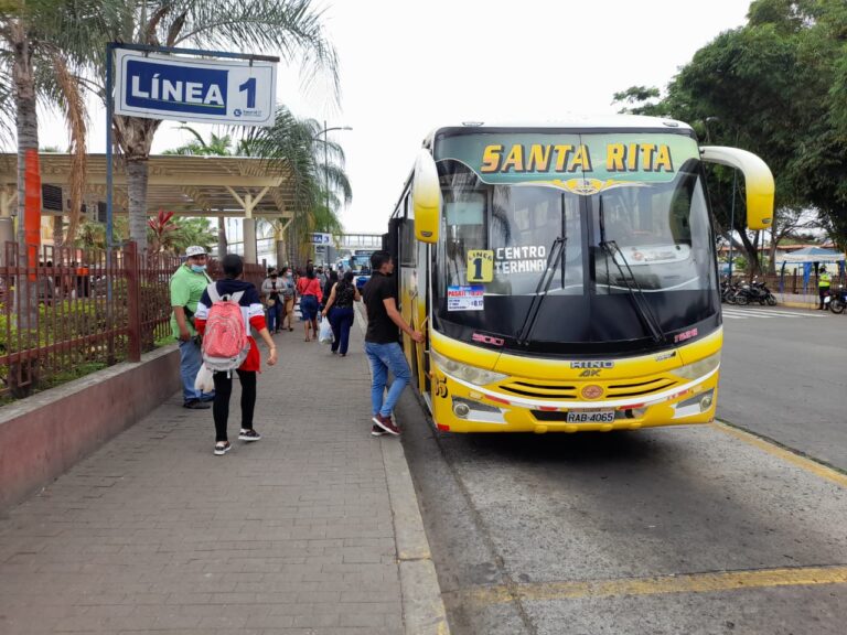
[[[259,336],[265,341],[270,351],[268,366],[274,366],[277,363],[277,347],[265,324],[265,311],[256,287],[250,282],[242,280],[244,259],[237,254],[227,254],[221,261],[221,266],[225,278],[214,283],[217,294],[223,298],[224,295],[242,292],[238,304],[242,309],[245,331],[248,334],[250,333],[250,327],[258,331]],[[205,331],[206,319],[211,308],[212,298],[208,294],[208,290],[206,290],[197,303],[196,324],[201,335]],[[253,335],[248,335],[247,338],[250,342],[250,351],[247,353],[244,363],[236,370],[242,383],[242,430],[238,433],[238,439],[251,442],[261,439],[261,434],[253,428],[253,413],[256,408],[256,374],[260,372],[261,357]],[[233,394],[233,377],[232,373],[219,370],[213,375],[213,379],[215,381],[215,400],[212,408],[215,420],[215,454],[223,455],[232,446],[226,428],[229,419],[229,397]]]

